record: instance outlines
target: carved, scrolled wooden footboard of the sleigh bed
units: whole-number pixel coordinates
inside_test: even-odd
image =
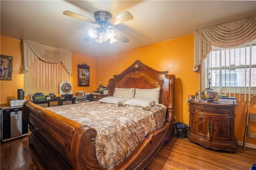
[[[52,169],[103,169],[95,151],[96,130],[31,102],[23,116],[32,127],[29,144]]]

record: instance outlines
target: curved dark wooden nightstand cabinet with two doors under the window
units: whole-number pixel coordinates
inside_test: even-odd
[[[189,101],[190,129],[188,140],[206,148],[236,152],[235,107],[236,105],[232,104]]]

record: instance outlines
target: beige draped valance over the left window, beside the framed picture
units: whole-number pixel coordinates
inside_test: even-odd
[[[72,53],[69,50],[22,40],[22,68],[20,73],[28,73],[31,65],[38,59],[49,63],[62,63],[69,76],[72,75]]]

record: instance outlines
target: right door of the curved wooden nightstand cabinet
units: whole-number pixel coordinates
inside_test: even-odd
[[[230,140],[230,119],[211,118],[211,138]]]

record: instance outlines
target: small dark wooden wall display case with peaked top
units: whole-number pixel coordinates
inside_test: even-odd
[[[77,86],[89,86],[90,66],[83,63],[82,65],[77,65],[77,68]]]

